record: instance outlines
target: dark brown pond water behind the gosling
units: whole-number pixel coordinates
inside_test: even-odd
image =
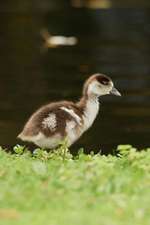
[[[100,99],[93,127],[74,145],[109,152],[150,146],[150,10],[71,9],[0,13],[0,145],[16,144],[29,115],[49,101],[76,100],[92,73],[112,77],[123,97]],[[40,30],[79,39],[42,50]]]

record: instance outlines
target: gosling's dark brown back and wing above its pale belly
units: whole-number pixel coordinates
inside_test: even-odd
[[[72,126],[77,126],[81,123],[77,111],[75,104],[67,101],[43,106],[29,118],[18,137],[25,140],[26,137],[36,136],[40,132],[47,137],[57,133],[65,136],[67,122],[73,121]]]

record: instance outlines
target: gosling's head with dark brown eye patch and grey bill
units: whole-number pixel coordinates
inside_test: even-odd
[[[102,96],[102,95],[121,96],[120,92],[114,87],[114,84],[108,76],[104,74],[94,74],[89,77],[83,87],[83,95]]]

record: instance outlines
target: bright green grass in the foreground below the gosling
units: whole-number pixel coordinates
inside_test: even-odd
[[[0,149],[0,225],[150,224],[150,149],[14,151]]]

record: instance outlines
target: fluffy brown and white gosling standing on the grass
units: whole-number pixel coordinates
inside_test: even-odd
[[[41,107],[18,137],[41,148],[56,148],[64,139],[71,146],[93,124],[99,111],[98,97],[107,94],[121,96],[108,76],[94,74],[85,81],[77,103],[60,101]]]

